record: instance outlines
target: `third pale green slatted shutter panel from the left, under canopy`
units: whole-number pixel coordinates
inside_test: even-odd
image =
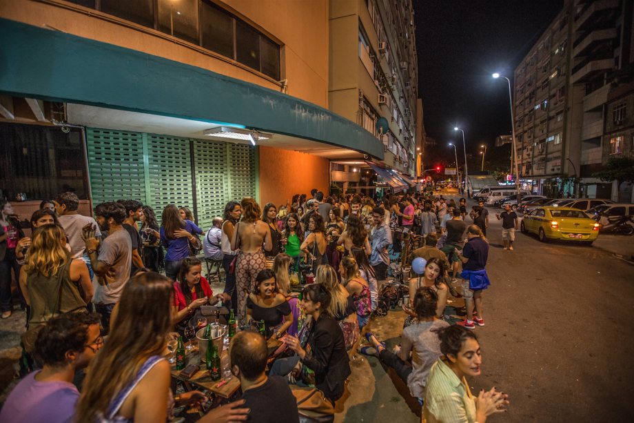
[[[206,231],[214,217],[223,217],[227,203],[227,144],[207,139],[192,141],[198,226]]]

